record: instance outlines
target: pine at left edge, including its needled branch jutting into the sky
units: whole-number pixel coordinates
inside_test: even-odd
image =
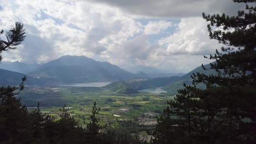
[[[4,31],[1,30],[0,35],[3,33]],[[10,26],[10,29],[5,33],[7,41],[0,39],[0,54],[16,49],[16,46],[20,45],[25,39],[25,34],[22,23],[17,22]],[[2,59],[3,57],[0,55],[0,61]],[[23,90],[25,80],[26,77],[22,78],[18,87],[0,87],[0,142],[15,143],[15,141],[21,141],[23,135],[29,135],[29,131],[26,131],[27,124],[29,124],[26,106],[21,105],[20,99],[13,97],[13,95],[17,95]],[[16,90],[18,92],[14,93]]]

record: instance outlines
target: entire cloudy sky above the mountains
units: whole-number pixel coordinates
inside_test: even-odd
[[[76,55],[189,72],[221,47],[209,39],[202,12],[233,16],[244,7],[232,0],[0,0],[0,29],[22,22],[27,32],[3,61]]]

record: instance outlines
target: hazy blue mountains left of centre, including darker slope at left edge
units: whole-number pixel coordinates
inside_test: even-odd
[[[2,62],[0,85],[17,83],[16,75],[42,81],[40,84],[70,84],[84,82],[113,82],[135,79],[139,75],[127,72],[109,62],[98,62],[86,56],[62,56],[43,65],[29,65],[22,62]],[[14,72],[11,72],[14,71]],[[26,73],[26,74],[22,74]],[[21,78],[21,77],[20,77]],[[33,84],[31,82],[31,84]],[[27,84],[27,83],[26,83]]]

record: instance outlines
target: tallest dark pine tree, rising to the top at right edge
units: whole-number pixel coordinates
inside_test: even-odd
[[[205,83],[211,98],[219,100],[221,111],[215,119],[221,125],[214,124],[219,131],[213,136],[230,143],[256,143],[256,7],[246,4],[246,10],[238,11],[237,16],[203,13],[203,18],[210,22],[207,26],[210,38],[225,47],[221,48],[223,54],[216,50],[209,57],[216,60],[210,69],[215,69],[218,75],[193,76],[194,83]],[[214,26],[220,30],[213,30]]]

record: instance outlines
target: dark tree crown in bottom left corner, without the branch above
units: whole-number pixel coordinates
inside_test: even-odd
[[[14,97],[1,98],[0,101],[0,143],[25,142],[23,136],[29,136],[28,111]]]

